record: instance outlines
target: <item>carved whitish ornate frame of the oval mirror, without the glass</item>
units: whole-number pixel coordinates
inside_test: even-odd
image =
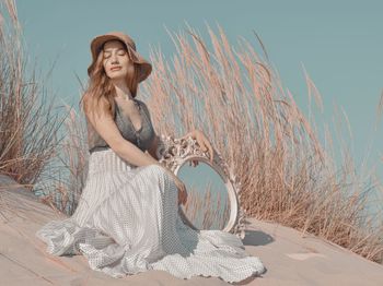
[[[156,156],[159,162],[165,165],[177,175],[179,168],[190,159],[197,159],[209,165],[224,181],[230,201],[230,218],[229,223],[221,230],[236,235],[240,238],[245,237],[245,218],[246,213],[241,207],[241,183],[236,181],[236,176],[233,170],[229,168],[227,162],[221,154],[213,148],[213,162],[210,163],[209,151],[202,152],[197,144],[197,141],[192,136],[174,138],[171,135],[161,134],[159,145],[156,148]],[[198,166],[197,166],[198,167]],[[186,217],[181,205],[178,205],[178,213],[182,221],[198,230]]]

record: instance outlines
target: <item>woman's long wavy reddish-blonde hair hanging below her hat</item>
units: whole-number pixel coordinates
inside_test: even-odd
[[[132,62],[134,59],[130,51],[126,48],[123,41],[121,44],[128,55],[129,60]],[[101,48],[101,51],[103,50],[103,47]],[[103,60],[104,60],[104,53],[98,52],[94,68],[90,74],[88,88],[83,93],[79,103],[84,114],[88,114],[91,111],[93,112],[94,110],[98,112],[100,100],[104,100],[107,103],[107,106],[108,106],[107,110],[105,111],[109,112],[112,116],[114,115],[114,111],[115,111],[114,97],[116,96],[116,90],[112,81],[109,80],[109,78],[106,75],[106,72],[103,67]],[[134,73],[132,74],[128,73],[126,76],[126,83],[132,97],[136,97],[138,84],[139,84],[138,69],[139,67],[137,67],[137,64],[134,62]]]

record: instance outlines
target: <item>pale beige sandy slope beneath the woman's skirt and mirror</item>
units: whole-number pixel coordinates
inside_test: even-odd
[[[0,177],[0,186],[12,183]],[[178,279],[150,271],[112,278],[81,255],[53,257],[35,238],[46,222],[65,218],[22,189],[0,189],[0,285],[229,285],[214,277]],[[246,250],[267,267],[246,285],[383,285],[383,266],[294,229],[248,219]]]

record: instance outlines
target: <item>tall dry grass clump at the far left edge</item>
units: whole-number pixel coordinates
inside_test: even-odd
[[[14,1],[0,4],[0,172],[32,190],[46,178],[61,121],[43,80],[26,70]]]

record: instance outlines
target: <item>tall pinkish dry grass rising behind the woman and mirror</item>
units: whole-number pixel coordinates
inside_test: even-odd
[[[376,225],[376,217],[365,212],[365,199],[380,186],[358,183],[347,151],[337,151],[343,152],[344,163],[343,168],[335,167],[329,132],[324,148],[314,122],[283,91],[260,39],[266,59],[244,39],[236,51],[221,27],[218,35],[208,28],[211,48],[189,26],[187,33],[170,35],[176,48],[172,61],[160,51],[151,53],[153,73],[140,85],[139,95],[147,99],[158,133],[181,136],[194,128],[202,130],[235,170],[247,215],[317,235],[382,262],[383,222]],[[309,76],[306,83],[310,98],[321,105]],[[25,110],[18,106],[23,115]],[[70,122],[81,126],[80,118],[73,116]],[[74,135],[83,139],[76,132],[82,131],[69,130],[67,142],[74,142]],[[70,213],[76,207],[72,194],[81,193],[84,181],[86,145],[79,141],[67,146],[60,152],[70,158],[69,178],[60,180],[56,193],[62,193],[59,208]],[[24,172],[23,168],[19,165],[16,171]],[[68,203],[74,207],[68,208]]]

